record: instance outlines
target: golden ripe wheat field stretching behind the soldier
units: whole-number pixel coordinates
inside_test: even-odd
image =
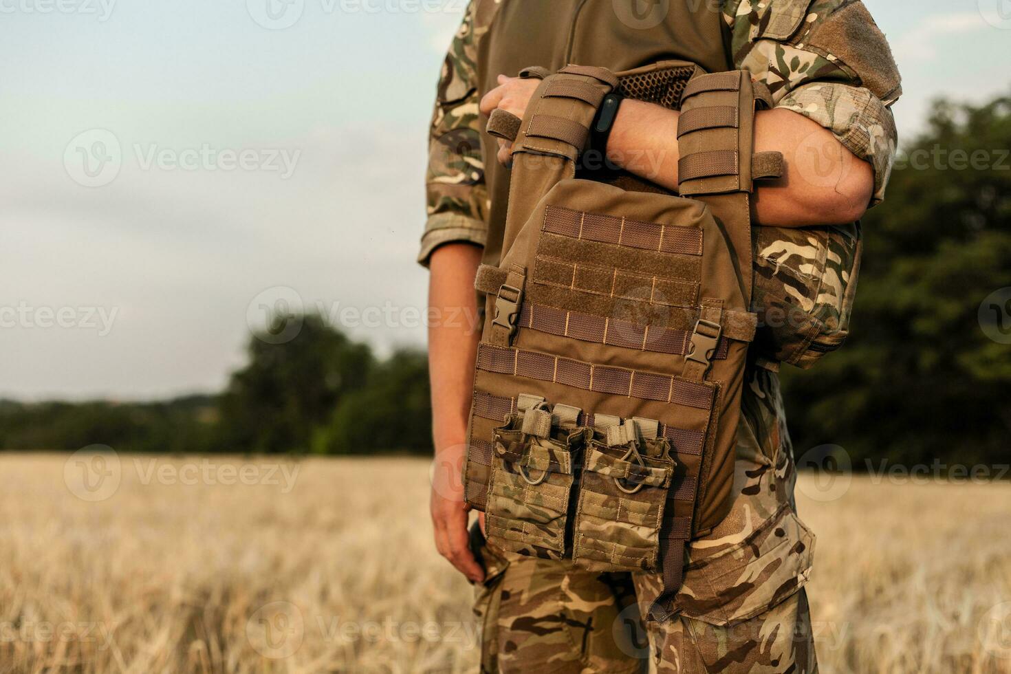
[[[427,462],[95,461],[0,454],[0,672],[474,671]],[[813,479],[822,671],[1011,671],[1011,486]]]

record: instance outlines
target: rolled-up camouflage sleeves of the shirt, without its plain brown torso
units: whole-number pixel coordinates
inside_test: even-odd
[[[478,140],[476,59],[478,42],[502,2],[509,0],[471,0],[443,64],[430,130],[428,222],[419,255],[423,265],[443,244],[484,245],[489,203]],[[721,5],[735,67],[768,85],[776,107],[830,129],[870,163],[871,205],[881,202],[896,154],[889,106],[901,87],[891,54],[863,4],[723,0]]]

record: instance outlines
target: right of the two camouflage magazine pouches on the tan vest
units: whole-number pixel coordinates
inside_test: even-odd
[[[616,572],[657,566],[674,462],[667,441],[656,438],[657,423],[646,424],[652,438],[640,441],[638,423],[630,419],[598,432],[586,449],[572,552],[580,567]]]

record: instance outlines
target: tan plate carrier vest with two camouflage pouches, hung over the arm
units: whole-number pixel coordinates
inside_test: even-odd
[[[498,266],[482,266],[467,501],[503,550],[593,571],[662,572],[669,617],[686,543],[729,511],[751,311],[754,155],[747,73],[663,62],[615,75],[528,69],[541,83],[515,139]],[[680,109],[680,195],[576,178],[604,97]],[[674,132],[674,129],[671,129]]]

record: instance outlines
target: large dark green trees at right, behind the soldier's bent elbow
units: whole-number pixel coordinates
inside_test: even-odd
[[[1006,460],[1011,346],[988,336],[980,309],[1011,286],[1009,148],[1008,97],[937,102],[905,147],[886,203],[863,221],[849,343],[810,372],[785,371],[799,451],[832,443],[857,460]],[[1011,322],[1009,310],[984,307],[988,330]]]

